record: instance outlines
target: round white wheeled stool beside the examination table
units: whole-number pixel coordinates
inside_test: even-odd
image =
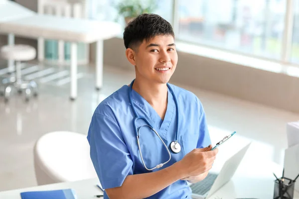
[[[5,60],[15,61],[15,77],[7,78],[2,81],[4,100],[8,101],[12,88],[18,92],[25,90],[25,100],[28,101],[31,93],[37,96],[37,84],[35,81],[24,81],[21,79],[21,61],[33,60],[36,57],[36,50],[28,45],[7,45],[0,49],[0,56]]]

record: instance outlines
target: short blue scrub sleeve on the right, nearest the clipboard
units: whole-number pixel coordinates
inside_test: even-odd
[[[199,137],[196,148],[204,148],[211,144],[211,139],[203,106],[198,99],[197,102],[199,106]]]

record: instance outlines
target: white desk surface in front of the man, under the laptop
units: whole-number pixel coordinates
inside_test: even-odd
[[[211,135],[212,143],[223,138],[223,135]],[[219,171],[222,164],[233,153],[244,147],[250,140],[243,139],[238,135],[230,140],[230,143],[219,147],[219,153],[213,165],[212,171]],[[283,168],[271,161],[258,159],[256,151],[249,150],[236,170],[233,178],[221,189],[215,192],[210,199],[236,199],[236,198],[257,198],[273,199],[274,176],[273,172],[281,176]],[[94,199],[95,195],[102,194],[96,187],[98,179],[88,179],[77,182],[57,183],[25,189],[0,192],[0,199],[20,199],[21,192],[74,189],[78,199]],[[299,193],[295,192],[294,199],[299,199]]]

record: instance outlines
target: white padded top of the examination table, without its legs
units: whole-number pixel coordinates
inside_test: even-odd
[[[91,43],[121,33],[118,23],[34,14],[0,22],[0,32],[18,36]]]

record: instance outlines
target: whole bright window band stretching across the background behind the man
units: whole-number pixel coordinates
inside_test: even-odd
[[[125,26],[116,5],[127,0],[89,0],[90,18]],[[128,0],[129,1],[129,0]],[[151,0],[141,1],[144,4]],[[288,0],[155,0],[154,13],[176,24],[176,39],[299,64],[299,0],[294,1],[290,60],[282,60]],[[177,9],[173,10],[174,2]],[[288,51],[289,52],[289,51]]]

